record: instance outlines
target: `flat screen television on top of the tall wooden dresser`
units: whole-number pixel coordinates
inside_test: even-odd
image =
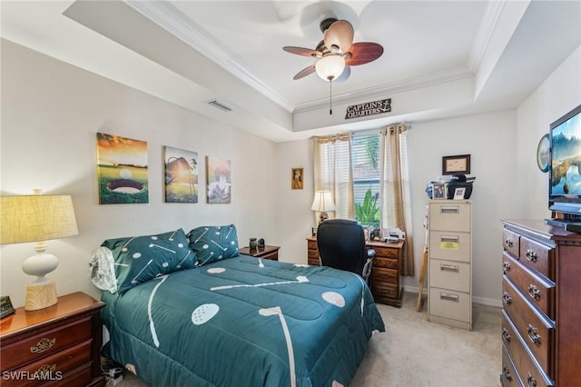
[[[548,208],[553,224],[581,222],[581,104],[549,126]]]

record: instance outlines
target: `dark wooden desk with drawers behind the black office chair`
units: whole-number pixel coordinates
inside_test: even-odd
[[[401,258],[404,241],[385,243],[368,241],[369,249],[375,250],[375,258],[371,268],[369,287],[376,303],[385,303],[401,307],[403,287],[401,282]],[[319,250],[317,238],[307,238],[307,261],[310,265],[319,266]]]

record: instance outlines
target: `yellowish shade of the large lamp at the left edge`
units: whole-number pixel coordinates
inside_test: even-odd
[[[69,195],[23,195],[0,198],[0,243],[26,243],[77,235]]]

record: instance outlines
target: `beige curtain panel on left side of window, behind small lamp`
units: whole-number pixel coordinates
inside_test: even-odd
[[[313,177],[315,191],[330,191],[337,211],[330,217],[355,219],[350,134],[313,137]],[[315,224],[319,213],[315,213]]]

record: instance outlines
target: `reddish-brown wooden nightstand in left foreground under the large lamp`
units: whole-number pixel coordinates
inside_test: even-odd
[[[16,313],[0,321],[2,384],[103,386],[103,306],[78,292],[37,311],[16,308]]]

